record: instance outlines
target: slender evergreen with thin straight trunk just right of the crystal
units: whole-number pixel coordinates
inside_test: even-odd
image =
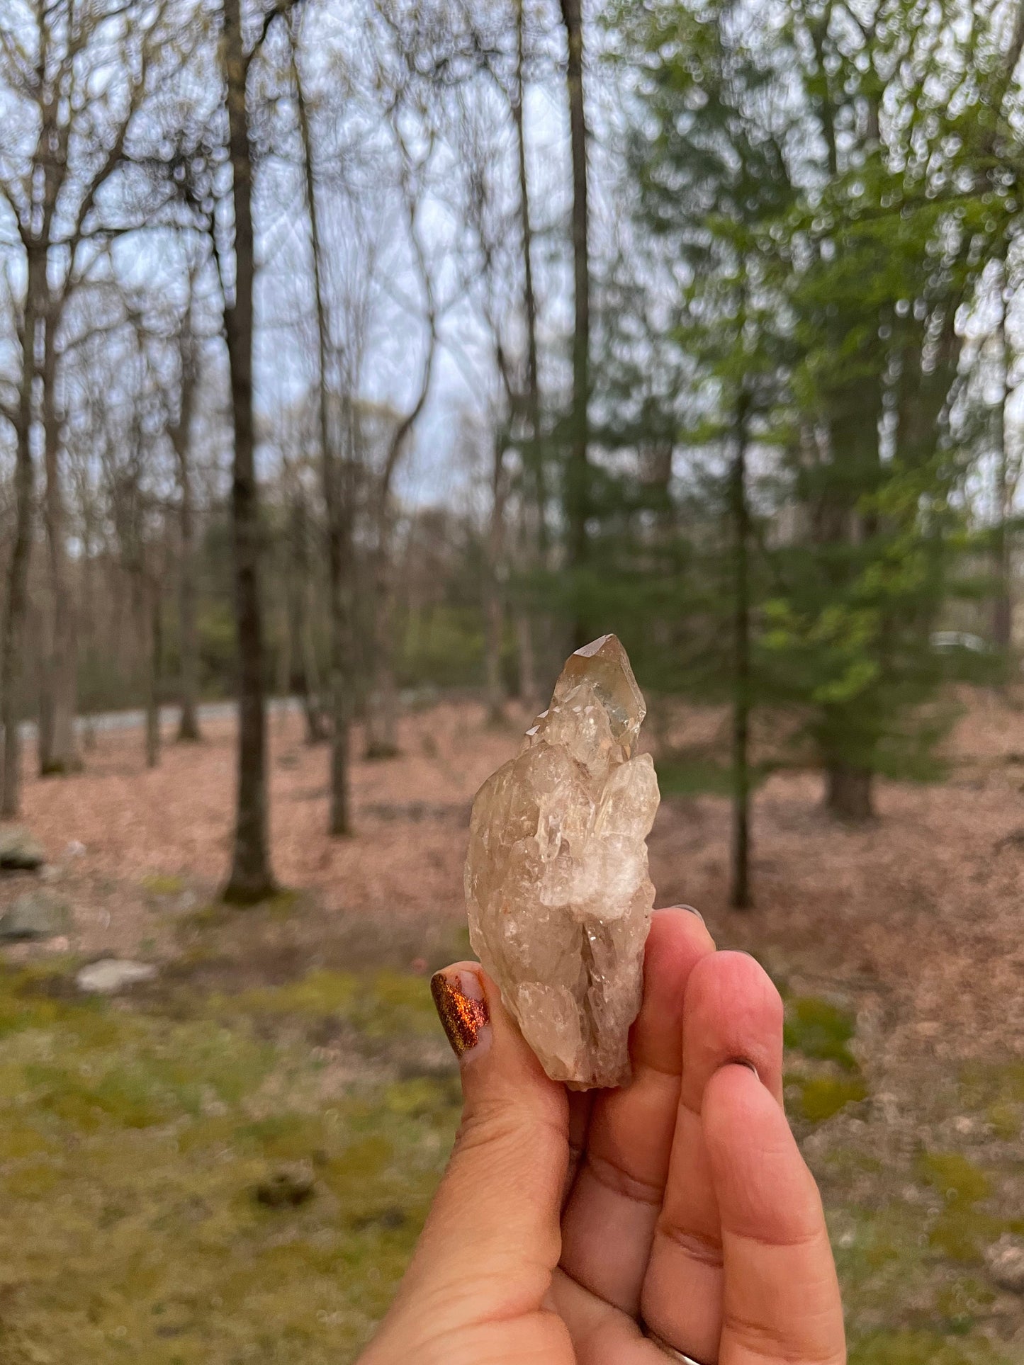
[[[705,465],[700,516],[710,528],[721,526],[710,536],[707,528],[691,535],[687,553],[691,572],[724,590],[713,612],[724,647],[711,646],[710,657],[718,659],[715,691],[728,696],[730,707],[729,898],[747,908],[750,726],[763,691],[755,673],[760,602],[752,566],[750,464],[752,450],[762,456],[770,450],[774,411],[785,394],[788,347],[778,326],[782,299],[771,284],[774,244],[767,227],[785,218],[793,191],[780,135],[770,112],[766,116],[770,97],[748,46],[756,25],[728,5],[687,3],[664,4],[653,16],[627,23],[634,44],[655,57],[636,81],[628,165],[636,183],[635,235],[653,244],[650,288],[661,307],[650,313],[659,315],[659,324],[640,319],[634,349],[639,340],[647,354],[625,386],[640,434],[668,431],[664,500],[669,500],[673,445],[685,442],[691,459]],[[650,356],[666,348],[674,352],[669,363],[676,379],[651,394],[657,367]],[[687,412],[676,416],[669,405],[668,414],[657,414],[657,405],[673,404],[680,390]],[[635,431],[627,434],[635,438]],[[691,601],[689,610],[695,606]],[[711,681],[707,663],[706,651],[699,672],[705,692]]]

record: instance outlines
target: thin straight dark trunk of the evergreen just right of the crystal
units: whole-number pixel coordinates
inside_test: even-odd
[[[732,878],[729,904],[737,910],[751,905],[750,891],[750,505],[747,502],[747,403],[740,397],[736,414],[736,456],[732,470],[732,519],[736,554],[733,605],[733,706],[732,706]]]

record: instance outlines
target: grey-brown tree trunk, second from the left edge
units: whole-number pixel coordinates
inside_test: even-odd
[[[78,648],[71,575],[68,572],[64,491],[60,476],[60,419],[57,415],[57,351],[53,306],[45,318],[42,360],[42,433],[46,489],[46,568],[49,640],[44,669],[40,723],[40,777],[75,773],[82,767],[75,741]]]

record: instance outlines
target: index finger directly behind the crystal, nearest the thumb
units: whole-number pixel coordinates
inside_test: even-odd
[[[563,1219],[561,1265],[635,1316],[672,1151],[683,1065],[683,999],[714,951],[703,920],[657,910],[644,954],[643,1005],[629,1039],[634,1076],[594,1100],[587,1145]]]

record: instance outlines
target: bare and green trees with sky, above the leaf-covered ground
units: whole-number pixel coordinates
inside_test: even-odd
[[[94,713],[532,703],[617,631],[866,819],[1013,673],[1014,3],[12,0],[3,814]],[[763,728],[773,744],[759,744]],[[29,732],[26,732],[29,733]],[[780,740],[785,736],[785,743]],[[685,766],[685,764],[684,764]]]

